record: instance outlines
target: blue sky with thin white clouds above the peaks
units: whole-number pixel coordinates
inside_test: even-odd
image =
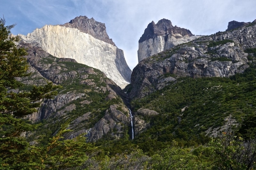
[[[131,70],[138,64],[139,39],[147,25],[169,19],[195,35],[225,31],[229,21],[256,19],[256,0],[0,0],[0,17],[16,24],[12,34],[44,25],[65,24],[77,16],[105,23],[109,38],[124,51]]]

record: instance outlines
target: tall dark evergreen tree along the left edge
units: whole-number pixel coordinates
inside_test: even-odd
[[[11,35],[15,26],[5,26],[5,19],[0,19],[0,167],[19,169],[26,162],[28,142],[21,133],[33,130],[34,126],[21,117],[31,114],[40,106],[40,99],[57,94],[55,86],[49,82],[45,86],[34,87],[30,92],[15,93],[22,84],[16,77],[27,76],[28,64],[26,50],[17,48],[18,36]]]

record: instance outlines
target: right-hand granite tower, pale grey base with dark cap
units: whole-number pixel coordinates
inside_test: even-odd
[[[140,37],[138,61],[198,37],[185,28],[172,26],[168,19],[161,19],[157,24],[152,21]]]

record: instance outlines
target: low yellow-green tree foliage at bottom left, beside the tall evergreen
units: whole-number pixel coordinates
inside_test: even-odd
[[[30,162],[27,167],[42,170],[81,167],[88,159],[87,154],[92,152],[95,147],[87,143],[83,135],[63,140],[63,135],[71,131],[67,128],[68,123],[62,124],[58,133],[49,139],[46,146],[31,146],[29,148]]]

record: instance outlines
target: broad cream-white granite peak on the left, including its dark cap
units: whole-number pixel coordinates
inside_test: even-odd
[[[64,25],[45,25],[21,39],[58,58],[72,58],[100,69],[121,87],[130,82],[131,69],[123,50],[109,39],[105,24],[93,18],[80,16]]]

